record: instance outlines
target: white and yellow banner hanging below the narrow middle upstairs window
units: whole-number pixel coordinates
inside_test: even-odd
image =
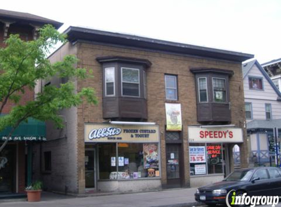
[[[165,103],[166,125],[168,131],[181,131],[180,103]]]

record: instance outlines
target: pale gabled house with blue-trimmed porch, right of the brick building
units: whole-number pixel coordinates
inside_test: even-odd
[[[243,63],[243,83],[250,161],[267,162],[275,155],[273,128],[281,126],[281,93],[257,60]]]

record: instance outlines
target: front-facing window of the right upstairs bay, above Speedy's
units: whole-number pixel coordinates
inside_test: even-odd
[[[227,102],[226,80],[213,78],[213,92],[215,102]]]

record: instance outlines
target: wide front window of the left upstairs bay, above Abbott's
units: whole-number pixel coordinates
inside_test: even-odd
[[[121,68],[122,74],[122,95],[140,96],[139,92],[139,69]]]

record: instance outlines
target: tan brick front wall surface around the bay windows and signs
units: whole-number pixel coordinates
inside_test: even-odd
[[[241,64],[227,61],[218,61],[190,56],[171,55],[158,52],[138,51],[110,46],[101,46],[88,43],[77,43],[77,57],[80,59],[79,67],[92,69],[94,78],[78,81],[78,90],[81,87],[93,87],[99,98],[97,106],[82,104],[78,106],[78,129],[77,129],[77,175],[79,193],[84,192],[84,123],[100,123],[102,119],[102,67],[96,61],[96,57],[116,55],[135,58],[144,58],[152,62],[147,71],[148,88],[148,122],[156,122],[160,126],[161,139],[161,173],[162,184],[166,184],[166,152],[165,152],[165,83],[164,74],[178,75],[178,93],[181,103],[182,125],[183,125],[183,150],[184,150],[184,178],[185,185],[189,185],[189,157],[187,126],[197,123],[196,114],[196,89],[194,75],[190,68],[214,67],[233,70],[234,75],[230,78],[230,102],[231,102],[231,124],[244,127],[244,101],[243,81]],[[245,134],[244,134],[245,137]],[[246,139],[245,139],[246,140]],[[241,155],[246,155],[247,147],[241,145]],[[244,160],[245,161],[245,160]]]

